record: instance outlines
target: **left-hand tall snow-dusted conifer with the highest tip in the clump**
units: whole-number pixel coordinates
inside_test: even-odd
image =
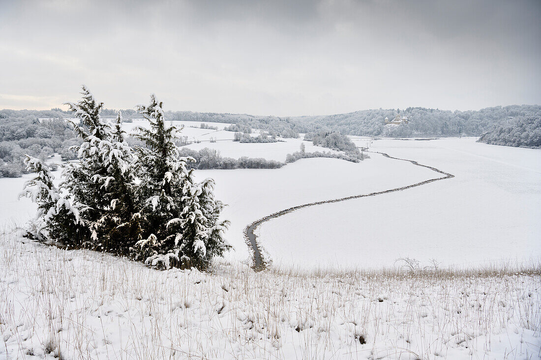
[[[138,238],[138,227],[131,226],[136,212],[135,158],[123,141],[122,131],[113,134],[100,116],[103,103],[97,103],[85,86],[82,95],[80,102],[68,103],[80,119],[80,124],[74,125],[83,143],[76,148],[79,162],[69,164],[63,172],[62,187],[81,209],[81,218],[87,225],[88,235],[83,245],[124,253],[126,245]]]

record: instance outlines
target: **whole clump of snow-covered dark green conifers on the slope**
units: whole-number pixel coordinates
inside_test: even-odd
[[[222,202],[213,194],[213,179],[195,182],[192,157],[181,157],[177,129],[166,126],[162,103],[154,95],[137,110],[150,123],[138,128],[146,146],[132,148],[121,129],[122,115],[109,125],[83,86],[82,99],[67,103],[80,146],[77,161],[65,165],[62,182],[41,160],[27,155],[27,170],[37,175],[21,196],[38,205],[28,236],[67,249],[111,252],[159,269],[206,269],[214,256],[231,248],[223,238],[227,221],[219,221]]]

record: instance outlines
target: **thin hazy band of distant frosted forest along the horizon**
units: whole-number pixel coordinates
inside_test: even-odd
[[[114,118],[117,110],[104,109],[103,117]],[[124,119],[141,118],[133,109],[122,110]],[[385,125],[384,119],[407,116],[410,123]],[[391,137],[451,137],[480,136],[483,132],[503,126],[513,118],[541,115],[541,105],[510,105],[478,111],[450,111],[427,108],[377,109],[322,116],[256,116],[215,112],[166,111],[168,121],[194,121],[237,124],[238,128],[262,129],[269,135],[298,137],[299,133],[319,130],[339,131],[341,134]],[[0,110],[2,117],[70,117],[60,109],[49,111]]]

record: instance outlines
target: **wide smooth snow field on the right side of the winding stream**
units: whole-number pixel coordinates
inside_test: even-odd
[[[436,259],[442,265],[482,266],[541,258],[541,151],[474,138],[383,139],[370,150],[414,159],[455,177],[272,219],[260,227],[259,239],[275,263],[393,266],[396,259],[410,257],[425,265]],[[365,163],[390,161],[371,156]],[[382,176],[413,183],[406,179],[408,171],[418,169],[395,168]]]

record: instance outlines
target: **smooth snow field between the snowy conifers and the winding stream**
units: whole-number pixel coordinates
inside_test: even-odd
[[[268,144],[255,145],[261,149]],[[231,221],[226,237],[235,246],[237,258],[250,256],[243,237],[246,225],[273,212],[314,201],[386,190],[432,177],[431,170],[380,156],[360,163],[312,158],[280,169],[198,170],[195,174],[197,179],[214,178],[216,197],[228,205],[222,214]],[[304,224],[299,223],[297,227],[302,232]],[[302,244],[307,238],[289,239]],[[270,250],[274,244],[265,241],[263,245]]]

